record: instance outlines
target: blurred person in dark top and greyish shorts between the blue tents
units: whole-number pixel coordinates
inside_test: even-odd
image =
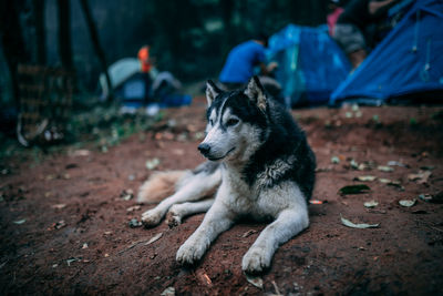
[[[365,30],[387,18],[398,0],[351,0],[337,20],[333,38],[348,55],[353,69],[368,55]]]

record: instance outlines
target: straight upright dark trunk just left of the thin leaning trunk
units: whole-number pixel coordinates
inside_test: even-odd
[[[72,47],[71,47],[71,13],[70,1],[58,0],[56,8],[59,13],[59,54],[63,68],[73,69]]]

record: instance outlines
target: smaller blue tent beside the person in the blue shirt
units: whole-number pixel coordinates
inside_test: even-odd
[[[288,106],[327,103],[351,69],[326,25],[287,25],[269,39],[267,57],[279,64],[276,80]]]

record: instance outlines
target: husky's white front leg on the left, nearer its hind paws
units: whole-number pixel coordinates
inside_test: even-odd
[[[178,248],[176,261],[192,265],[199,261],[210,243],[234,223],[233,213],[223,203],[216,202],[209,208],[200,226]]]

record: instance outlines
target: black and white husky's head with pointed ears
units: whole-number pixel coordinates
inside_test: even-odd
[[[198,145],[210,161],[244,162],[268,135],[268,100],[257,76],[245,89],[224,92],[210,80],[206,137]]]

